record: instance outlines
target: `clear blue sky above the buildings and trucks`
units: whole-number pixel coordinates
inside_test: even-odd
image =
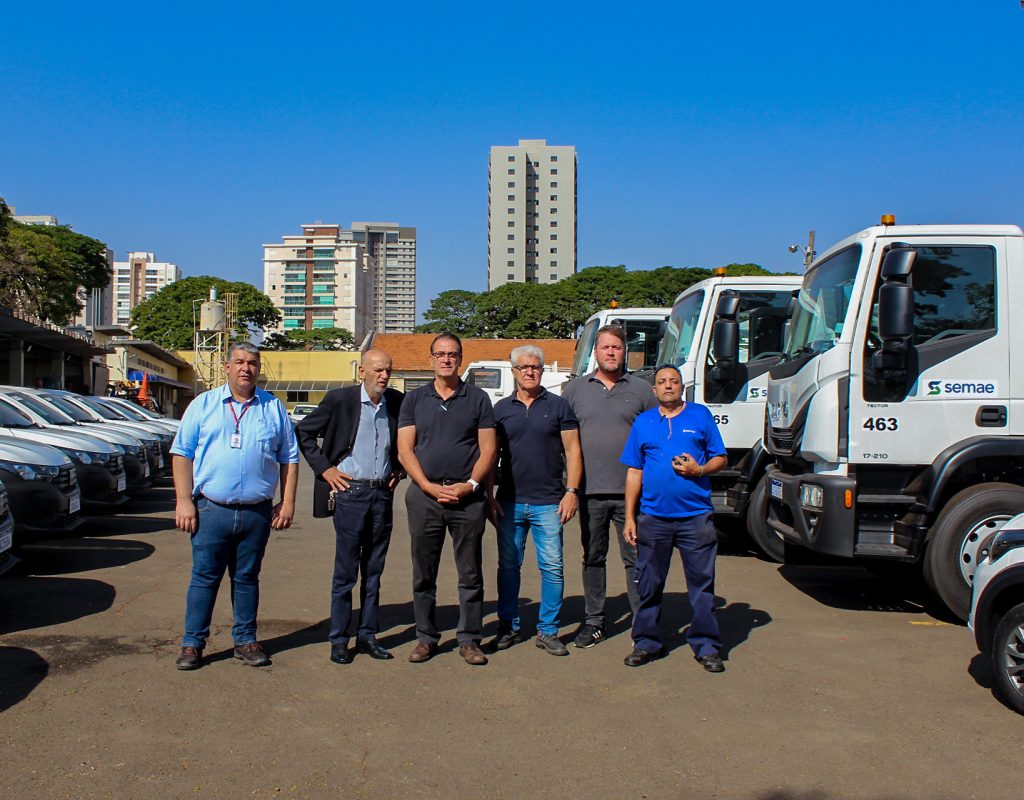
[[[486,281],[492,144],[580,159],[579,264],[800,268],[883,212],[1024,223],[1024,9],[932,2],[7,4],[0,196],[262,287],[304,222]]]

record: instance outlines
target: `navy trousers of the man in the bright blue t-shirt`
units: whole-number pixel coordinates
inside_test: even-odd
[[[662,596],[673,550],[682,556],[686,591],[693,609],[686,641],[697,658],[718,652],[722,648],[715,617],[718,534],[711,512],[684,519],[641,514],[637,519],[636,575],[640,604],[633,615],[633,641],[648,652],[662,649]]]

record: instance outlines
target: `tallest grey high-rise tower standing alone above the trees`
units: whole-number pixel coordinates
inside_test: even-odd
[[[487,288],[553,284],[577,270],[577,155],[571,145],[519,139],[490,149]]]

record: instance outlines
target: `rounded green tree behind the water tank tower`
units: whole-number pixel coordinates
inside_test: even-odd
[[[238,295],[234,330],[230,334],[232,341],[248,340],[253,329],[263,329],[281,320],[281,312],[273,307],[270,298],[252,284],[199,276],[168,284],[136,305],[131,312],[135,336],[152,339],[171,350],[193,347],[198,322],[194,317],[194,301],[209,298],[211,287],[216,288],[221,299],[229,292]],[[195,314],[199,314],[199,303],[195,303]]]

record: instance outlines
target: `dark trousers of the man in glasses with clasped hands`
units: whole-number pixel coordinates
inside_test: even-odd
[[[437,569],[445,532],[452,535],[459,573],[459,644],[479,642],[483,627],[483,497],[474,493],[458,505],[441,505],[415,483],[406,493],[413,548],[413,613],[416,637],[440,641],[437,630]]]

